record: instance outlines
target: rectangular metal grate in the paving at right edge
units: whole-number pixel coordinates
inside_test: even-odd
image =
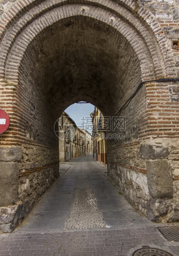
[[[179,242],[179,226],[177,227],[160,227],[158,230],[162,235],[172,242]]]

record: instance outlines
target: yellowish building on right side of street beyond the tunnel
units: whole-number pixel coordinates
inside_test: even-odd
[[[107,147],[106,147],[106,128],[104,116],[97,107],[94,107],[92,118],[92,140],[93,140],[93,157],[106,166],[107,164]]]

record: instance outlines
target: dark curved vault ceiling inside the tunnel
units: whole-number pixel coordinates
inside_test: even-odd
[[[139,83],[140,64],[127,40],[90,17],[62,19],[31,42],[21,62],[20,80],[29,94],[49,102],[56,114],[79,100],[105,114],[115,112]]]

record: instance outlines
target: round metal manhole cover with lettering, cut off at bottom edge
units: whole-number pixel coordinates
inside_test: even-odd
[[[132,256],[172,256],[172,254],[168,253],[167,251],[163,251],[158,248],[150,248],[149,246],[143,246],[143,248],[134,251]]]

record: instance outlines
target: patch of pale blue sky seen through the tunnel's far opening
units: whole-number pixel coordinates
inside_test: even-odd
[[[92,133],[92,122],[90,113],[94,111],[94,105],[90,103],[75,103],[69,106],[65,112],[75,121],[76,125]],[[82,126],[82,127],[81,127]]]

